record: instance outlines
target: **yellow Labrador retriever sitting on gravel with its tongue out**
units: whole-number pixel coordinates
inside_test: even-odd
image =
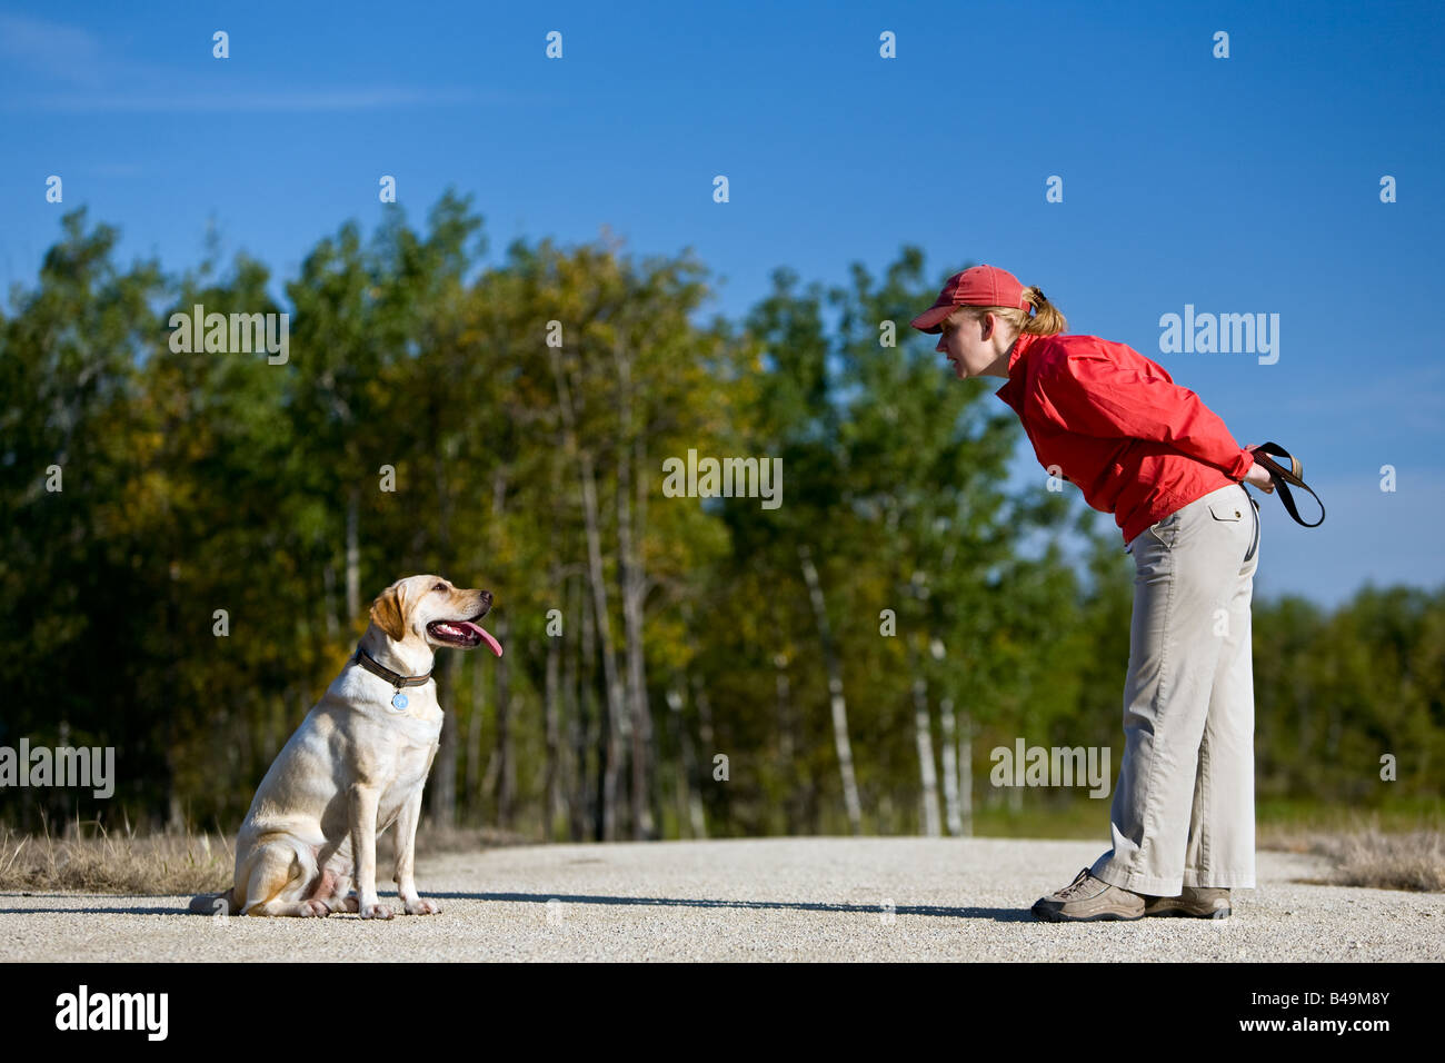
[[[439,576],[397,580],[371,606],[357,652],[290,736],[236,839],[236,878],[192,911],[246,915],[394,914],[376,894],[376,837],[396,823],[396,885],[407,915],[441,911],[412,875],[422,787],[442,710],[431,677],[441,646],[501,645],[477,620],[491,593]],[[355,879],[355,892],[351,882]]]

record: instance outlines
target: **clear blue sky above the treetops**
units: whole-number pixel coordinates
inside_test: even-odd
[[[1039,285],[1071,333],[1133,346],[1240,443],[1303,457],[1329,516],[1306,531],[1266,499],[1259,594],[1445,583],[1439,3],[139,12],[0,4],[6,289],[81,204],[126,257],[194,263],[214,220],[227,257],[289,278],[344,220],[374,227],[381,174],[418,224],[447,187],[473,192],[494,255],[601,226],[637,255],[691,246],[727,315],[776,266],[842,282],[916,243],[935,270]],[[1279,314],[1277,363],[1162,353],[1159,318],[1186,304]]]

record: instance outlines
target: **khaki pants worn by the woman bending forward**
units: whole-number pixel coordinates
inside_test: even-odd
[[[1136,894],[1254,885],[1256,509],[1228,484],[1126,547],[1137,576],[1114,848],[1090,871]]]

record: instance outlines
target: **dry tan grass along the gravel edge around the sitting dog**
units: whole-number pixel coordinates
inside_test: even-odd
[[[66,837],[56,837],[49,826],[40,834],[22,834],[0,824],[0,891],[185,895],[220,892],[231,884],[234,836],[139,836],[129,823],[108,832],[79,819],[68,827]],[[416,832],[416,852],[478,852],[525,840],[500,830],[432,827],[423,821]],[[389,830],[377,839],[377,865],[389,868],[394,859],[394,833]],[[380,885],[389,876],[390,871]]]

